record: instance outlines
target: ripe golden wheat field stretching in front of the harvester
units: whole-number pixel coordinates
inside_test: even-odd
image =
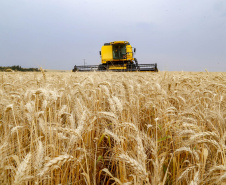
[[[226,184],[226,73],[0,73],[0,184]]]

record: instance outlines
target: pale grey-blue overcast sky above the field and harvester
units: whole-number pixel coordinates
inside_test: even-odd
[[[0,66],[100,64],[117,40],[160,70],[226,72],[226,0],[0,1]]]

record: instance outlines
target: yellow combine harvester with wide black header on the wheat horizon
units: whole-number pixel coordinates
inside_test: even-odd
[[[100,65],[74,66],[76,71],[158,71],[157,64],[138,64],[136,48],[127,41],[105,43],[100,51]]]

